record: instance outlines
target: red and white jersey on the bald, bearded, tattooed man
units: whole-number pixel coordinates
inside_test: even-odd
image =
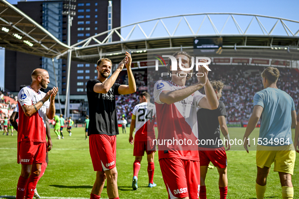
[[[22,109],[23,105],[34,105],[46,95],[45,92],[35,92],[30,86],[22,88],[18,94],[19,124],[18,142],[39,141],[46,142],[46,113],[50,106],[49,100],[33,115],[27,117]]]

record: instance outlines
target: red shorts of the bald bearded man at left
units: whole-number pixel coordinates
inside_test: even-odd
[[[46,162],[47,143],[38,141],[21,141],[18,143],[18,163],[32,165]]]

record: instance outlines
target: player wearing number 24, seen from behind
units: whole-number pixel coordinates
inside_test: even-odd
[[[153,139],[156,139],[155,136],[155,115],[156,108],[155,105],[149,102],[150,95],[147,92],[142,92],[139,95],[139,105],[136,105],[133,109],[132,121],[130,126],[130,136],[129,142],[134,143],[134,152],[135,162],[133,164],[133,182],[132,187],[134,190],[138,188],[138,172],[140,170],[140,162],[144,155],[144,152],[147,154],[147,172],[149,177],[148,187],[154,187],[156,184],[153,181],[155,164],[154,164],[154,155],[156,152],[156,146],[153,145]],[[133,131],[136,127],[135,139],[133,137]]]

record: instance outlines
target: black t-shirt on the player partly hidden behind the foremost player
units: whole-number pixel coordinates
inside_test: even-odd
[[[199,109],[197,111],[198,139],[205,140],[205,143],[203,140],[199,142],[199,147],[218,148],[223,146],[222,144],[218,146],[220,139],[219,116],[226,117],[225,106],[221,101],[215,110]]]

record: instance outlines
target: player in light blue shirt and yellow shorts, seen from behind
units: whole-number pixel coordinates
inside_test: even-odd
[[[255,190],[258,199],[264,199],[267,177],[274,163],[274,171],[279,173],[282,198],[293,198],[291,181],[296,153],[292,142],[291,128],[296,125],[294,101],[286,92],[277,88],[279,77],[277,68],[268,67],[263,72],[264,90],[255,93],[253,111],[243,137],[244,148],[248,153],[248,136],[262,117],[257,146],[257,181]],[[252,142],[251,142],[252,144]]]

